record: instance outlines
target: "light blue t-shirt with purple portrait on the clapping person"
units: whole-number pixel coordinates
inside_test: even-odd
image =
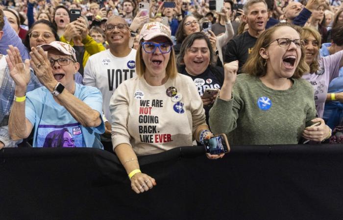
[[[102,95],[98,88],[75,83],[74,96],[100,113],[101,124],[83,127],[71,113],[56,103],[46,87],[27,92],[25,117],[34,125],[33,147],[94,147],[103,149],[99,134],[102,121]]]

